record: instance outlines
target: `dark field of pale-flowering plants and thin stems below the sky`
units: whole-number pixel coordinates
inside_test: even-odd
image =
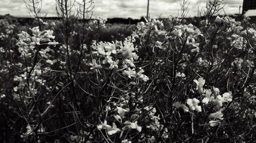
[[[248,17],[215,0],[197,25],[110,24],[56,2],[58,20],[0,20],[0,142],[255,142]]]

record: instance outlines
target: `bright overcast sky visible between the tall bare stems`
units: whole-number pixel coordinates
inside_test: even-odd
[[[25,0],[28,1],[28,0]],[[42,0],[42,15],[56,16],[55,0]],[[77,0],[82,1],[82,0]],[[188,0],[189,13],[187,16],[197,16],[198,6],[205,7],[207,0]],[[239,13],[239,6],[243,0],[224,0],[225,13]],[[147,0],[94,0],[93,16],[102,17],[131,17],[140,18],[146,15]],[[180,9],[179,0],[150,0],[151,17],[168,17],[177,15]],[[242,9],[241,9],[242,11]],[[19,17],[29,17],[28,10],[23,0],[0,0],[0,15],[11,14]]]

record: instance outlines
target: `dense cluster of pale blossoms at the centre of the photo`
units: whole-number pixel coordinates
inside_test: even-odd
[[[144,81],[148,80],[148,77],[144,75],[142,68],[135,66],[135,61],[138,59],[136,53],[137,48],[133,44],[134,39],[132,37],[125,38],[124,42],[99,42],[93,44],[94,54],[99,56],[99,64],[95,59],[90,64],[91,69],[100,69],[102,65],[109,65],[109,69],[116,69],[121,71],[123,75],[129,78],[138,77]],[[103,59],[103,60],[102,60]],[[101,61],[102,60],[102,61]],[[101,65],[102,64],[102,65]],[[135,69],[138,69],[136,72]]]

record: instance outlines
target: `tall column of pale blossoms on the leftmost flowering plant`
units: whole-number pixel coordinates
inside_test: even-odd
[[[55,36],[52,35],[53,31],[51,30],[40,32],[38,27],[30,30],[31,35],[24,31],[18,34],[19,38],[16,43],[20,56],[25,60],[25,64],[17,64],[21,71],[13,79],[17,83],[13,88],[13,99],[17,101],[29,102],[31,97],[39,92],[39,87],[44,87],[47,91],[52,90],[45,84],[44,76],[49,74],[50,66],[56,62],[49,59],[50,46],[56,46],[58,42],[53,41]],[[22,94],[24,88],[27,88],[26,96]]]

